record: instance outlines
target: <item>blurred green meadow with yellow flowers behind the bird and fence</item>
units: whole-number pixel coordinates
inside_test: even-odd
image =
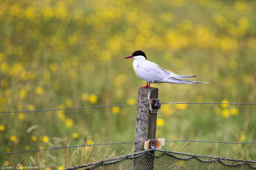
[[[135,50],[210,84],[159,84],[161,102],[255,103],[256,1],[1,1],[0,111],[135,104]],[[255,106],[162,104],[157,138],[256,141]],[[0,113],[0,152],[134,141],[136,106]],[[255,145],[164,150],[256,160]],[[133,152],[133,144],[0,155],[47,170]]]

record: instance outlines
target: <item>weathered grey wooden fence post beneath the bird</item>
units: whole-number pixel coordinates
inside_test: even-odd
[[[138,103],[149,103],[150,99],[158,98],[158,89],[147,87],[138,89]],[[135,141],[147,141],[156,138],[156,119],[157,113],[150,113],[149,104],[141,104],[137,106],[136,115],[136,133]],[[144,143],[135,143],[134,152],[144,150]],[[144,169],[141,167],[147,161],[147,169],[154,169],[153,160],[134,160],[134,169]]]

